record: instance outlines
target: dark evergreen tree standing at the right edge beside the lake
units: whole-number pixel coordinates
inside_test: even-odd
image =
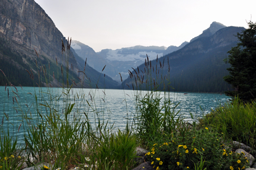
[[[237,33],[239,43],[228,52],[229,75],[226,82],[231,84],[234,91],[226,91],[226,95],[239,97],[244,102],[256,98],[256,23],[248,23],[249,28]]]

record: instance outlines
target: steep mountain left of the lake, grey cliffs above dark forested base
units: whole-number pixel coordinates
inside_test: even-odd
[[[46,12],[33,0],[0,0],[0,4],[0,69],[8,79],[1,73],[0,85],[7,82],[23,86],[34,86],[34,83],[59,86],[61,82],[79,84],[84,73],[78,72],[81,67],[68,50],[70,41]],[[68,81],[64,80],[66,68],[72,75]],[[91,74],[94,77],[98,72],[93,70]],[[80,84],[91,87],[98,81],[104,84],[104,78],[96,82],[84,78]],[[113,80],[111,83],[116,84]]]

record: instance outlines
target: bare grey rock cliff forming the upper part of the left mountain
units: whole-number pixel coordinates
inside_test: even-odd
[[[37,51],[47,59],[62,62],[62,40],[67,40],[55,27],[51,18],[33,0],[0,0],[0,35],[9,40],[12,48],[28,57],[35,57]],[[41,58],[43,59],[43,57]],[[76,68],[73,54],[69,62]]]

